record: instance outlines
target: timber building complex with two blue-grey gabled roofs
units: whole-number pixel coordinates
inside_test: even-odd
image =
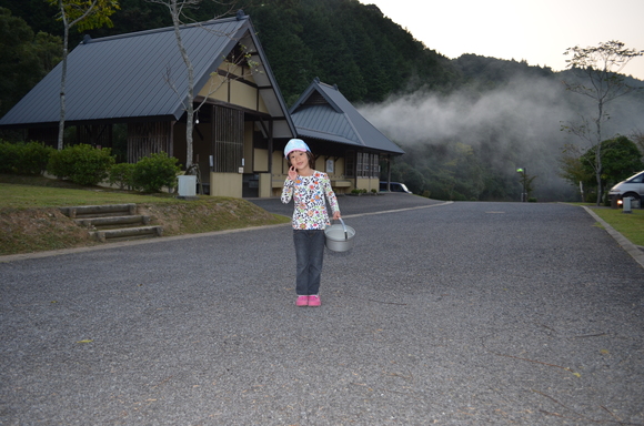
[[[304,139],[339,192],[378,189],[383,158],[404,152],[338,91],[315,80],[286,108],[250,17],[181,28],[194,70],[193,159],[207,193],[274,196],[285,178],[282,150]],[[26,140],[57,144],[62,64],[2,119]],[[128,162],[167,152],[187,163],[188,71],[173,28],[85,37],[68,57],[66,126],[76,143],[113,148],[127,129]]]

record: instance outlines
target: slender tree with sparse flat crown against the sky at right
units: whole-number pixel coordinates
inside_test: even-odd
[[[596,114],[591,116],[592,123],[587,118],[582,116],[580,123],[564,125],[564,129],[597,148],[603,136],[602,124],[608,119],[607,104],[638,89],[626,84],[620,72],[633,58],[644,55],[644,51],[626,49],[621,41],[612,40],[600,43],[597,47],[568,48],[564,54],[572,55],[572,59],[566,60],[566,68],[570,68],[578,79],[564,82],[566,89],[590,98],[597,108]],[[600,205],[603,192],[602,150],[595,151],[593,169],[597,182],[597,205]]]

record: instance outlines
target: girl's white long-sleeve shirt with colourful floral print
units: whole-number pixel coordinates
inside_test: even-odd
[[[314,170],[310,176],[298,175],[295,181],[286,178],[282,190],[282,203],[288,204],[293,199],[294,230],[323,230],[330,224],[324,197],[335,213],[340,207],[326,173]]]

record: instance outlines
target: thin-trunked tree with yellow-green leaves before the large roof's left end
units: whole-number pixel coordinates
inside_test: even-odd
[[[60,122],[58,125],[58,149],[62,150],[66,114],[67,55],[69,48],[69,30],[77,27],[79,31],[102,26],[111,26],[110,16],[119,9],[118,0],[46,0],[58,6],[59,20],[63,26],[62,39],[62,72],[60,78]]]

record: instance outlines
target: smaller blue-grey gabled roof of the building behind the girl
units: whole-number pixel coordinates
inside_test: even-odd
[[[391,154],[404,151],[373,126],[338,90],[315,79],[291,106],[298,135],[372,149]]]

